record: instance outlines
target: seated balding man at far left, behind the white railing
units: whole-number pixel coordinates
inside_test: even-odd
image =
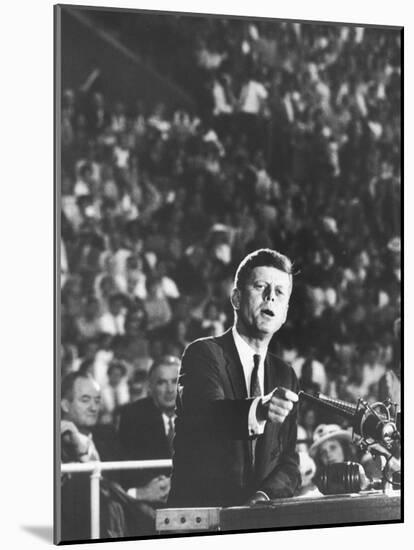
[[[111,426],[97,425],[101,407],[100,387],[81,371],[62,380],[62,462],[121,460],[119,443]],[[118,481],[119,472],[105,472],[100,483],[100,536],[118,538],[154,532],[153,510],[128,496]],[[86,474],[61,476],[61,540],[82,541],[91,537],[90,481]]]

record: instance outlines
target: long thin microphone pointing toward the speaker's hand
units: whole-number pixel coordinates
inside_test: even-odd
[[[395,440],[400,439],[395,422],[391,419],[389,408],[381,402],[369,405],[366,401],[359,400],[357,405],[333,399],[322,393],[316,396],[304,391],[299,391],[299,399],[305,399],[330,412],[336,412],[346,418],[355,433],[364,440],[373,439],[389,449]]]

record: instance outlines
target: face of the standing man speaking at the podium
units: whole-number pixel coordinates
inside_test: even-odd
[[[286,321],[291,291],[288,273],[270,266],[252,269],[243,289],[232,295],[239,329],[253,338],[277,332]]]

